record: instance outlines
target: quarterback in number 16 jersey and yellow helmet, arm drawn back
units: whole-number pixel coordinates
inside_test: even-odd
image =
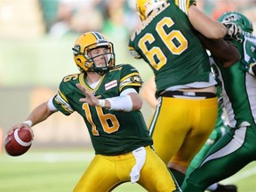
[[[10,132],[21,126],[30,129],[57,111],[67,116],[77,112],[84,118],[95,156],[75,192],[111,191],[128,181],[148,191],[180,191],[152,147],[140,112],[138,70],[130,64],[115,65],[113,44],[99,32],[79,36],[72,50],[80,73],[65,76],[58,93]]]

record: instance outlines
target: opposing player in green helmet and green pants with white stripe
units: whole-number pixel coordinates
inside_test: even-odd
[[[219,20],[224,24],[234,22],[243,29],[238,41],[232,40],[241,54],[240,60],[223,68],[220,60],[213,58],[230,129],[188,175],[181,186],[184,192],[203,192],[212,183],[227,179],[256,160],[256,38],[252,36],[252,22],[240,12],[226,12]]]

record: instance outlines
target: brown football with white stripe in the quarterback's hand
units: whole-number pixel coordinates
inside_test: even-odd
[[[20,156],[28,151],[32,145],[32,134],[28,129],[21,127],[4,139],[4,149],[9,156]]]

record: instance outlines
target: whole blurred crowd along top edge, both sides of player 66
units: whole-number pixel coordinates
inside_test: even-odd
[[[52,4],[52,0],[40,0],[45,31],[50,36],[61,37],[98,30],[106,36],[124,38],[130,35],[140,20],[135,0],[55,1],[56,4]],[[47,14],[51,4],[53,14],[49,17]],[[197,6],[213,19],[218,19],[223,12],[238,11],[256,22],[256,0],[197,0]]]

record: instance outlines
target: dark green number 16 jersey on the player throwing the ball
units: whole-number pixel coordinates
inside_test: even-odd
[[[89,106],[79,102],[84,94],[76,88],[76,84],[84,84],[99,99],[119,96],[127,88],[139,92],[142,81],[136,68],[129,64],[116,66],[102,77],[95,89],[85,79],[84,73],[65,76],[53,104],[65,115],[76,111],[83,116],[96,154],[116,156],[152,145],[153,141],[139,110],[123,112]]]

